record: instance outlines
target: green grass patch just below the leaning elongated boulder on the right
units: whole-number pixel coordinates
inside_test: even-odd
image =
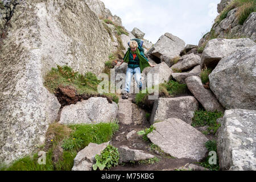
[[[205,131],[204,134],[215,134],[221,126],[216,120],[221,117],[223,117],[223,114],[217,110],[214,112],[197,110],[194,113],[191,126],[209,126],[208,131]]]

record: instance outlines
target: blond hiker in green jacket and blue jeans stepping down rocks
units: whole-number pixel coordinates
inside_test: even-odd
[[[138,39],[139,40],[139,39]],[[155,65],[150,64],[148,59],[144,56],[144,49],[141,45],[138,45],[136,40],[131,40],[129,44],[129,48],[123,57],[123,60],[117,66],[123,64],[123,62],[128,63],[128,68],[126,71],[126,78],[125,78],[125,89],[123,89],[123,99],[128,98],[128,94],[130,92],[130,82],[131,77],[135,77],[135,81],[137,82],[137,86],[139,90],[142,89],[142,81],[141,81],[141,73],[144,68],[146,67],[155,67]]]

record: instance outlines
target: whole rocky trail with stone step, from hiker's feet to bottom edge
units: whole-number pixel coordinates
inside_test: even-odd
[[[117,118],[119,119],[119,131],[114,135],[110,144],[121,151],[121,164],[111,168],[110,171],[207,170],[199,164],[195,164],[196,160],[186,158],[177,159],[157,148],[151,148],[153,143],[151,143],[150,140],[144,140],[142,135],[137,134],[138,131],[149,128],[150,121],[149,118],[147,119],[144,115],[144,111],[133,104],[134,97],[135,94],[129,94],[129,99],[123,100],[122,97],[119,96],[117,114]],[[129,109],[131,109],[131,112],[129,112]],[[120,150],[120,148],[123,149]],[[146,164],[139,163],[140,160],[150,158],[157,158],[158,160]],[[190,168],[188,168],[188,166]]]

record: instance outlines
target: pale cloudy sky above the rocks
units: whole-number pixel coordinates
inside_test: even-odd
[[[199,43],[212,28],[218,15],[220,0],[101,0],[113,15],[122,19],[132,31],[139,28],[145,39],[156,43],[166,32],[183,39],[186,44]]]

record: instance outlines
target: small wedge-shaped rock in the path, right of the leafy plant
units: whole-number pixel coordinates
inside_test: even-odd
[[[139,160],[154,158],[154,155],[147,154],[142,150],[133,150],[127,146],[119,147],[118,151],[120,154],[119,163],[138,162]]]

